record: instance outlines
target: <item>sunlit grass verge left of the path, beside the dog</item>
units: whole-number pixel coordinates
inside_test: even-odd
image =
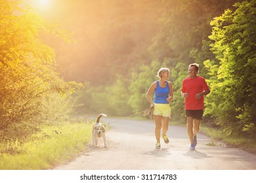
[[[26,141],[0,142],[0,169],[51,169],[75,158],[91,141],[91,124],[64,123],[43,127]]]

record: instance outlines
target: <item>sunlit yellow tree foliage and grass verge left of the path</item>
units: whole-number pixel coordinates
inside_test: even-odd
[[[0,169],[48,169],[89,141],[89,125],[70,122],[72,93],[83,85],[54,71],[56,56],[40,33],[70,33],[19,1],[0,0]]]

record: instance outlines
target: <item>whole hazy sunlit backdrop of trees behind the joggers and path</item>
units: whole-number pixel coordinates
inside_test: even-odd
[[[203,122],[255,137],[254,0],[56,0],[36,14],[0,2],[2,135],[145,110],[160,67],[171,73],[172,120],[183,120],[182,80],[196,62],[211,89]]]

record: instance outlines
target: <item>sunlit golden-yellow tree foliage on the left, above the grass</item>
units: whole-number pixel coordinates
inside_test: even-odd
[[[14,1],[0,3],[0,131],[23,129],[30,134],[47,116],[43,101],[53,106],[49,101],[64,99],[81,84],[64,82],[54,73],[54,50],[39,37],[40,31],[53,30],[54,25]],[[65,31],[55,31],[68,38]]]

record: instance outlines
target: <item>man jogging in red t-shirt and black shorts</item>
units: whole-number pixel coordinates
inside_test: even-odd
[[[203,117],[203,97],[210,93],[210,90],[205,79],[202,76],[198,76],[199,65],[197,63],[189,65],[188,73],[189,76],[182,82],[181,95],[185,99],[186,124],[190,139],[190,150],[195,150],[197,144],[196,134],[200,130],[200,122]]]

